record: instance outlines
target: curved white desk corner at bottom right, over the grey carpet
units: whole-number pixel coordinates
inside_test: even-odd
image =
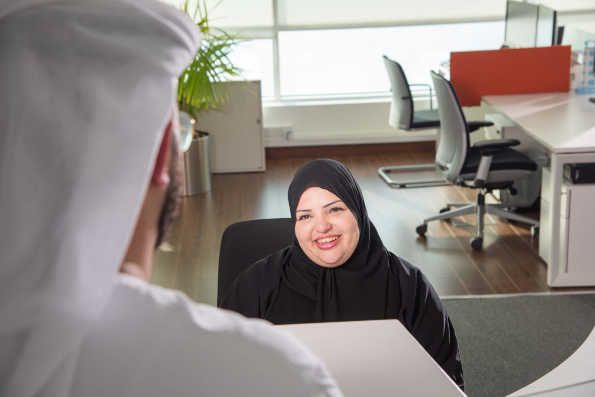
[[[555,347],[555,346],[554,346]],[[570,357],[531,385],[523,387],[508,397],[539,396],[593,396],[595,395],[595,329]],[[578,384],[578,385],[577,385]],[[574,388],[569,387],[577,385]],[[582,387],[580,387],[582,386]],[[571,390],[560,390],[569,387]],[[578,393],[577,389],[582,389]],[[548,390],[551,390],[547,393]],[[541,394],[543,393],[543,394]]]

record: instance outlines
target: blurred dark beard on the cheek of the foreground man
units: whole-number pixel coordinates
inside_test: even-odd
[[[180,150],[177,142],[176,134],[171,134],[171,155],[170,155],[170,186],[167,188],[167,194],[165,195],[165,202],[161,210],[161,216],[159,217],[159,228],[157,235],[157,242],[155,243],[155,249],[159,248],[159,245],[165,239],[167,232],[170,229],[171,223],[177,216],[177,204],[180,198]]]

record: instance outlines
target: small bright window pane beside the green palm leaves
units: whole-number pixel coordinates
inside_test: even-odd
[[[229,56],[230,61],[244,70],[246,80],[261,80],[263,97],[275,95],[273,73],[273,39],[242,42]]]

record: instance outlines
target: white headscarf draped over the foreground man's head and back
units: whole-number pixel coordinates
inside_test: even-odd
[[[152,0],[0,4],[0,395],[68,394],[198,42]]]

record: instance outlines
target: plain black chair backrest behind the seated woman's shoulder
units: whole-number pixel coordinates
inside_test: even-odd
[[[264,257],[292,245],[291,218],[256,219],[227,226],[221,237],[217,307],[237,276]]]

